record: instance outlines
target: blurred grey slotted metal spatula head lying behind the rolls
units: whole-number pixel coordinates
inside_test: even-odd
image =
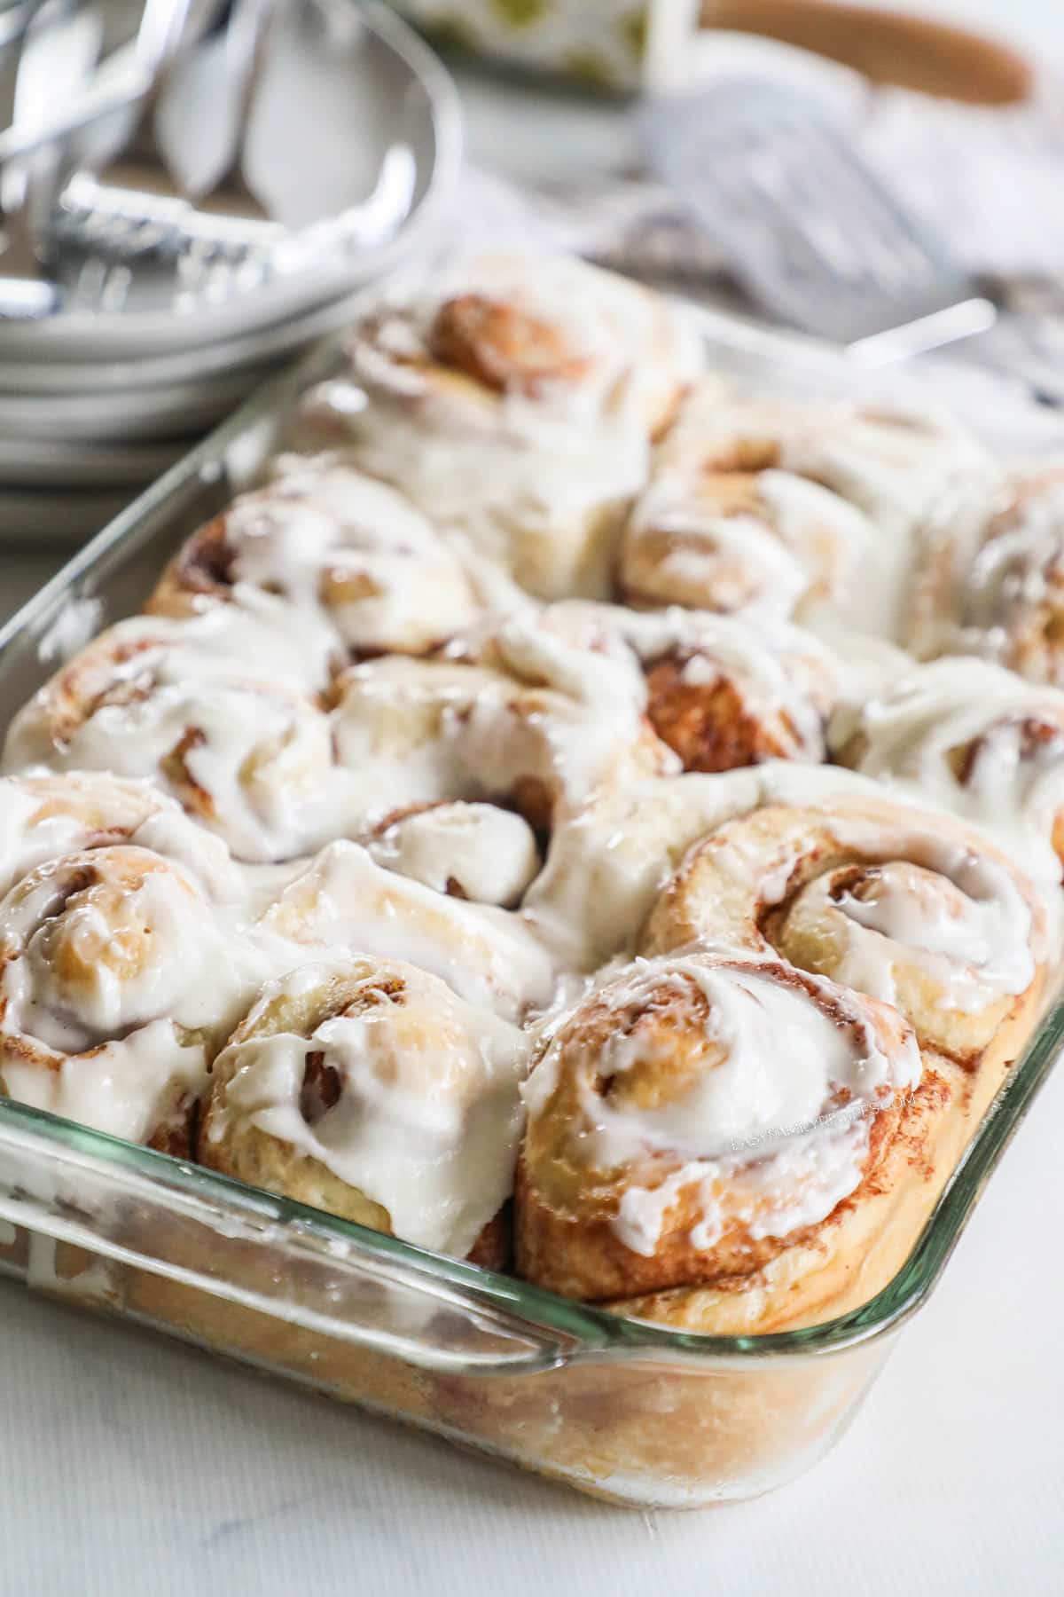
[[[995,307],[820,105],[775,83],[657,101],[657,174],[774,318],[879,364],[983,332]]]

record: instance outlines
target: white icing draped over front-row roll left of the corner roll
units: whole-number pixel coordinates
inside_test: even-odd
[[[325,1019],[306,1038],[281,1032],[227,1048],[215,1070],[233,1076],[212,1135],[257,1126],[381,1204],[397,1236],[461,1257],[512,1188],[530,1043],[410,965],[381,973],[402,976],[399,997]],[[327,974],[295,971],[266,1001]],[[300,1112],[309,1052],[340,1076],[337,1104],[314,1124]]]

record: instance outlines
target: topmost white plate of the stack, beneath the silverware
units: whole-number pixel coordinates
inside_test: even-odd
[[[348,295],[396,264],[458,172],[461,117],[448,73],[373,0],[294,0],[270,50],[246,169],[257,168],[260,187],[284,180],[289,196],[294,179],[313,184],[319,209],[327,200],[337,216],[376,193],[381,174],[402,169],[408,187],[394,225],[329,267],[230,284],[222,299],[209,284],[190,291],[175,268],[134,270],[121,310],[100,310],[99,300],[78,310],[75,300],[54,316],[0,326],[0,366],[139,359],[244,337]]]

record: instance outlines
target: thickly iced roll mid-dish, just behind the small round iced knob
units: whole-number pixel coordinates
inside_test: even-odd
[[[533,613],[479,636],[472,653],[480,663],[386,658],[340,677],[337,759],[368,821],[488,798],[544,830],[603,783],[676,768],[629,650],[577,647]]]

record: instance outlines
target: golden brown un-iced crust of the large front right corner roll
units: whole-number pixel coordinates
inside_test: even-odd
[[[755,1139],[751,1147],[737,1142],[716,1164],[652,1145],[640,1155],[611,1153],[609,1134],[601,1140],[603,1127],[617,1116],[665,1113],[672,1124],[681,1108],[692,1115],[703,1083],[742,1046],[739,1036],[727,1036],[727,1019],[716,1016],[699,982],[702,971],[753,977],[756,989],[769,984],[790,992],[799,1000],[794,1016],[809,1006],[857,1052],[869,1038],[900,1059],[911,1049],[909,1028],[895,1011],[780,963],[696,955],[672,966],[636,966],[606,982],[554,1035],[538,1067],[547,1078],[546,1102],[539,1102],[533,1078],[536,1099],[518,1166],[515,1234],[518,1271],[539,1286],[566,1297],[609,1300],[675,1286],[740,1282],[785,1249],[815,1239],[828,1223],[799,1222],[790,1231],[764,1223],[778,1203],[774,1183],[763,1187],[759,1177],[770,1137]],[[845,1091],[828,1089],[820,1118],[845,1104]],[[884,1089],[869,1102],[858,1193],[874,1183],[900,1121],[892,1092]],[[638,1124],[641,1140],[646,1129]],[[794,1171],[791,1182],[801,1190],[801,1172]],[[657,1193],[667,1196],[656,1236],[636,1250],[619,1225],[625,1201]],[[707,1214],[715,1215],[708,1228]]]

